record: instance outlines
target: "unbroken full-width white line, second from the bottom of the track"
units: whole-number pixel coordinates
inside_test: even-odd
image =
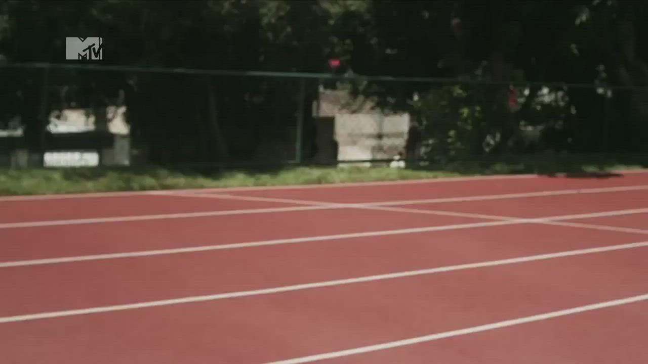
[[[18,321],[31,321],[38,319],[51,319],[54,317],[65,317],[65,316],[75,316],[75,315],[87,315],[89,313],[102,313],[102,312],[115,312],[123,310],[134,310],[137,308],[150,308],[157,306],[170,306],[174,304],[186,304],[191,302],[204,302],[204,301],[216,301],[221,299],[232,299],[236,297],[248,297],[255,295],[268,295],[273,293],[282,293],[288,291],[299,291],[299,290],[309,290],[314,288],[324,288],[332,286],[341,286],[346,284],[356,284],[363,282],[374,282],[376,280],[388,280],[388,279],[399,279],[406,277],[416,277],[421,275],[430,275],[435,273],[449,272],[449,271],[459,271],[465,269],[475,269],[482,267],[493,267],[493,266],[503,266],[507,264],[519,264],[524,262],[534,262],[537,260],[548,260],[554,258],[564,258],[567,256],[578,256],[578,255],[589,255],[596,253],[605,253],[608,251],[620,251],[625,249],[634,249],[640,247],[648,247],[648,242],[636,242],[631,244],[619,244],[603,247],[594,247],[589,249],[577,249],[571,251],[561,251],[558,253],[549,253],[549,254],[540,254],[540,255],[529,255],[529,256],[520,256],[518,258],[509,258],[501,260],[489,260],[486,262],[470,263],[470,264],[459,264],[456,266],[445,266],[445,267],[434,267],[429,269],[418,269],[414,271],[401,271],[396,273],[388,273],[381,275],[369,275],[364,277],[356,277],[349,279],[338,279],[338,280],[326,280],[322,282],[306,283],[306,284],[294,284],[290,286],[279,286],[273,288],[263,288],[260,290],[250,290],[250,291],[237,291],[237,292],[228,292],[228,293],[217,293],[214,295],[200,295],[200,296],[191,296],[191,297],[182,297],[178,299],[166,299],[159,301],[148,301],[148,302],[138,302],[132,304],[118,304],[113,306],[99,306],[92,308],[81,308],[78,310],[64,310],[64,311],[54,311],[54,312],[41,312],[41,313],[30,313],[27,315],[16,315],[16,316],[6,316],[0,317],[0,323],[14,323]]]

